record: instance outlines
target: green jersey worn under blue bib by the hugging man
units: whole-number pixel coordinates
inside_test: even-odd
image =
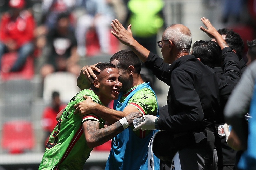
[[[124,94],[121,98],[121,101],[124,101],[125,98],[134,90],[137,86],[131,88],[126,94]],[[158,103],[156,99],[156,95],[154,92],[149,88],[142,88],[141,90],[137,91],[128,101],[128,105],[132,105],[136,107],[143,115],[150,114],[150,115],[157,115],[157,108]],[[140,138],[144,138],[147,136],[151,131],[135,131],[134,133],[139,136]]]

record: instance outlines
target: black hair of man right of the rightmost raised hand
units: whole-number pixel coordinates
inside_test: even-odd
[[[243,58],[244,42],[240,35],[227,28],[219,29],[218,33],[226,36],[225,42],[228,44],[231,50],[236,50],[236,54],[239,60],[241,60]]]

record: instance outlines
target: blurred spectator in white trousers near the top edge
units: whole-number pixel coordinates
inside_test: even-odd
[[[79,56],[86,55],[86,33],[95,29],[100,50],[103,54],[110,54],[110,24],[115,18],[114,8],[109,0],[83,0],[86,13],[77,19],[76,39]]]

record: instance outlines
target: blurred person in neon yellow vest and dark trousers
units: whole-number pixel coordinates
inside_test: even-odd
[[[143,10],[141,7],[143,6]],[[128,0],[128,15],[126,23],[132,25],[131,30],[133,37],[139,44],[147,50],[157,54],[156,42],[157,34],[163,26],[166,28],[163,15],[163,0]],[[154,91],[156,89],[155,76],[150,69],[142,65],[141,75],[144,81],[149,81]]]

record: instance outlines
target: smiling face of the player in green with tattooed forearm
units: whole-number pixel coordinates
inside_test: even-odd
[[[117,68],[107,68],[98,76],[99,96],[105,99],[115,100],[118,98],[122,83]]]

